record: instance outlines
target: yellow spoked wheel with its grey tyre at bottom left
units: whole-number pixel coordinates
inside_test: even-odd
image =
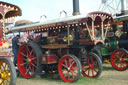
[[[16,85],[16,71],[8,58],[0,58],[0,85]]]

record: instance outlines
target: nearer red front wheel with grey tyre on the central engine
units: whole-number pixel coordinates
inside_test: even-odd
[[[81,64],[74,55],[64,55],[58,65],[60,77],[65,82],[75,82],[81,75]]]

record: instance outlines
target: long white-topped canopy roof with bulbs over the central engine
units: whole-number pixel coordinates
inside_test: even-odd
[[[13,27],[9,32],[25,32],[25,31],[47,31],[50,29],[58,29],[64,28],[64,26],[82,26],[86,23],[88,25],[92,25],[92,21],[94,21],[94,25],[101,25],[101,22],[104,24],[108,24],[108,22],[112,22],[113,18],[110,14],[105,12],[91,12],[88,15],[77,15],[70,16],[65,18],[59,18],[54,20],[48,20],[45,22],[35,22],[29,23],[22,26]]]

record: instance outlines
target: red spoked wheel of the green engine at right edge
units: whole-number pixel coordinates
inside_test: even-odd
[[[114,69],[123,71],[128,66],[128,53],[125,49],[118,49],[112,53],[111,64]]]

